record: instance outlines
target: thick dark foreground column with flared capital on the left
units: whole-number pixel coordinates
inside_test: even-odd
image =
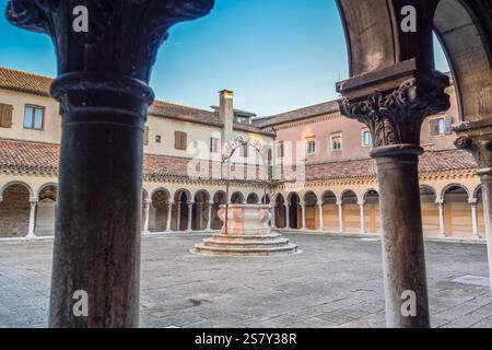
[[[74,9],[86,8],[78,32]],[[15,25],[52,37],[62,115],[51,327],[136,327],[148,82],[175,23],[207,14],[213,0],[11,0]],[[77,27],[77,26],[75,26]],[[89,314],[80,308],[87,295]],[[75,296],[75,299],[74,299]]]

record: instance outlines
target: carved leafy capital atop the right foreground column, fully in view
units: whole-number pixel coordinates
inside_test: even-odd
[[[447,81],[446,81],[447,80]],[[420,133],[425,117],[450,107],[446,75],[432,82],[412,78],[396,90],[376,91],[365,97],[342,98],[342,115],[365,124],[372,136],[373,156],[394,153],[420,153]]]

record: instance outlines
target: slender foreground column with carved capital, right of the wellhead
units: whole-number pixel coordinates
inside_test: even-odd
[[[358,81],[360,90],[353,94],[349,93],[349,83],[340,83],[339,89],[347,91],[340,107],[343,115],[364,122],[374,140],[371,155],[376,159],[380,194],[387,327],[427,328],[431,324],[418,173],[419,155],[423,153],[420,131],[426,116],[449,108],[449,96],[444,92],[449,80],[443,74],[426,75],[415,68],[394,69],[408,80],[388,81],[390,78],[382,72],[379,81],[368,83],[373,84],[371,89]],[[367,91],[376,92],[367,96]]]

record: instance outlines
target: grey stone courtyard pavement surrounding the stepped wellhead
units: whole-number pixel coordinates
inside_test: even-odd
[[[142,327],[384,327],[380,242],[286,235],[303,254],[210,258],[201,236],[142,242]],[[52,242],[0,242],[0,327],[45,327]],[[487,247],[426,243],[433,327],[492,327]],[[467,278],[465,278],[467,277]],[[483,283],[482,283],[483,284]]]

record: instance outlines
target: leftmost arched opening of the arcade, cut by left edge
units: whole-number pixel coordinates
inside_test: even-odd
[[[30,224],[31,191],[23,184],[8,186],[0,202],[0,237],[26,236]]]

